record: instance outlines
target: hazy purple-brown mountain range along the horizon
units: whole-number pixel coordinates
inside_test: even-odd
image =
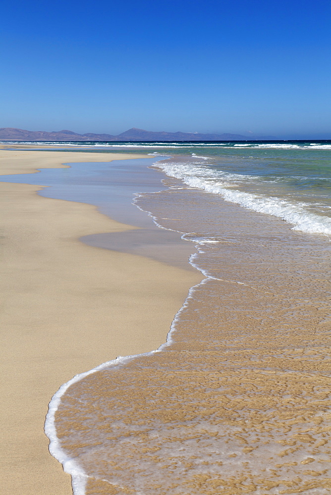
[[[153,132],[132,127],[117,136],[111,134],[78,134],[62,131],[26,131],[14,127],[0,128],[1,141],[256,141],[275,139],[272,136],[248,137],[241,134],[199,134],[189,132]]]

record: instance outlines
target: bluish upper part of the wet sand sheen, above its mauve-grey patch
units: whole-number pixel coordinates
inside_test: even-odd
[[[110,159],[109,155],[103,157]],[[44,186],[40,196],[94,204],[101,213],[118,222],[157,230],[150,218],[132,204],[134,193],[165,188],[161,183],[163,174],[153,174],[147,168],[152,163],[148,158],[70,163],[70,168],[3,175],[0,181]]]

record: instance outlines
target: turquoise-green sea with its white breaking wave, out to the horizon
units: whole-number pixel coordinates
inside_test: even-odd
[[[158,166],[162,155],[171,156],[161,168],[186,186],[276,216],[307,234],[331,235],[331,141],[48,144],[101,154],[141,151],[154,155]]]

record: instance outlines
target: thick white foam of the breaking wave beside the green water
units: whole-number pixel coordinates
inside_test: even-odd
[[[309,234],[331,235],[331,218],[309,212],[304,208],[304,203],[292,203],[285,199],[233,189],[235,184],[229,182],[229,179],[231,175],[233,179],[238,179],[239,174],[213,171],[204,165],[199,166],[198,164],[158,162],[157,166],[162,168],[167,175],[181,179],[190,187],[221,195],[226,201],[237,203],[259,213],[267,213],[281,218],[292,224],[293,230],[300,230]]]

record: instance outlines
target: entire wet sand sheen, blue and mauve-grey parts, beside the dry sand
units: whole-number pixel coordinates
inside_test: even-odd
[[[164,174],[148,168],[153,161],[138,158],[71,163],[70,168],[0,176],[0,181],[44,186],[40,196],[94,204],[113,220],[137,227],[126,232],[85,236],[81,239],[85,244],[148,256],[192,271],[188,243],[178,239],[177,233],[159,229],[151,217],[133,204],[137,192],[166,189],[161,182]]]

